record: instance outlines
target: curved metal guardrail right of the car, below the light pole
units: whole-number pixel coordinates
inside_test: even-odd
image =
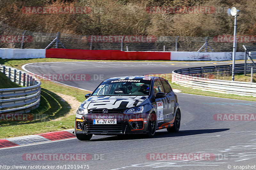
[[[251,68],[252,64],[248,64],[247,68],[249,67]],[[231,71],[232,65],[182,68],[172,72],[172,82],[206,91],[256,96],[256,83],[211,79],[214,74],[231,74]],[[243,72],[244,64],[236,64],[235,73]]]

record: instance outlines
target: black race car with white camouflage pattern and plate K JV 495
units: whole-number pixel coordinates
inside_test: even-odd
[[[180,129],[180,106],[167,80],[125,76],[104,80],[76,111],[79,140],[92,135],[147,134]]]

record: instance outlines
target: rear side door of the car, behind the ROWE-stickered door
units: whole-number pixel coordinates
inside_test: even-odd
[[[166,111],[164,112],[164,117],[171,121],[174,118],[175,96],[172,93],[172,88],[169,85],[168,81],[165,79],[161,79],[161,82],[163,84],[167,98]]]

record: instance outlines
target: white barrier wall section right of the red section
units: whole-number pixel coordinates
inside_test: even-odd
[[[244,52],[237,52],[236,60],[244,60]],[[171,52],[170,60],[225,61],[232,60],[232,52]]]

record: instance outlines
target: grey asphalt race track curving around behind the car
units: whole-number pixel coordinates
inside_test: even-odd
[[[102,81],[96,79],[100,75],[102,79],[106,79],[124,75],[163,74],[182,67],[221,64],[230,62],[58,62],[29,64],[25,68],[35,74],[90,74],[89,81],[61,83],[94,90]],[[256,102],[176,94],[181,107],[181,126],[178,133],[168,133],[163,129],[157,131],[153,138],[93,136],[90,141],[72,138],[39,145],[4,148],[0,149],[1,162],[9,165],[89,165],[89,169],[93,170],[219,170],[256,165],[255,121],[214,120],[214,114],[255,114]],[[90,153],[92,159],[29,161],[22,159],[25,153]],[[149,153],[155,156],[148,157]],[[154,160],[157,153],[204,153],[215,154],[215,157],[211,160],[184,160],[184,157],[176,160]]]

